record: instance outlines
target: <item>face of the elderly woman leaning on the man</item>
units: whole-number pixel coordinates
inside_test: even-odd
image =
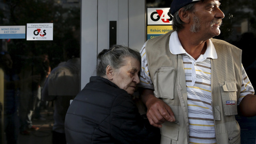
[[[124,58],[126,65],[114,71],[112,82],[127,93],[133,94],[140,82],[140,62],[132,57]]]

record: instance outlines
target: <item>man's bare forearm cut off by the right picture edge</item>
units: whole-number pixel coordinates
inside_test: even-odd
[[[256,116],[256,95],[247,94],[239,104],[238,110],[243,116]]]

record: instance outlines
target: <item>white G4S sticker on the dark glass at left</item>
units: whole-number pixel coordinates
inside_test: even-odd
[[[52,41],[53,23],[27,23],[27,41]]]

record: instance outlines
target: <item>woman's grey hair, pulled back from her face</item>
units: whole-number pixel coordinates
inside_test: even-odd
[[[132,57],[141,63],[140,53],[123,45],[114,45],[110,49],[101,51],[97,57],[97,76],[106,76],[106,68],[108,65],[116,70],[125,66],[126,61],[124,58],[126,57]]]

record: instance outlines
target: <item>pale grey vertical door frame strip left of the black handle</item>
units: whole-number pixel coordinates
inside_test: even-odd
[[[97,2],[82,1],[81,89],[89,82],[97,65]]]

